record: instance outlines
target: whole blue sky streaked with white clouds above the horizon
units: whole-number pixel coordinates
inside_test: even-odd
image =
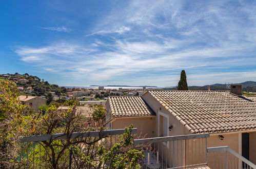
[[[256,81],[256,1],[1,1],[0,74],[61,86]]]

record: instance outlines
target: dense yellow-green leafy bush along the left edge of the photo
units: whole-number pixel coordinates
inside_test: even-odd
[[[21,134],[25,134],[22,125],[26,106],[18,101],[17,93],[15,83],[0,78],[0,168],[11,168],[15,165],[17,158],[15,140]]]

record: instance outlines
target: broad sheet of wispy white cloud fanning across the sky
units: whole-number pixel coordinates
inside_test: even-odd
[[[250,68],[255,26],[256,10],[248,4],[131,1],[98,20],[88,43],[22,46],[16,53],[36,67],[90,83],[175,86],[182,69],[191,85],[239,82],[256,80]]]

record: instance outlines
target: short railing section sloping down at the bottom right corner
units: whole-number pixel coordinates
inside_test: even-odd
[[[207,148],[208,166],[210,168],[223,169],[240,169],[240,168],[254,168],[256,165],[230,149],[228,146],[209,147]]]

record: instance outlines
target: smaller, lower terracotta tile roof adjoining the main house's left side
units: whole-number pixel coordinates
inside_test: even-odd
[[[155,116],[140,96],[108,97],[113,117]]]

